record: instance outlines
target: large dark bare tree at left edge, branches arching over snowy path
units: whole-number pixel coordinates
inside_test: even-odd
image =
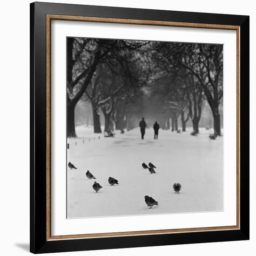
[[[67,38],[67,137],[75,137],[74,108],[101,63],[112,65],[147,43],[132,40]]]

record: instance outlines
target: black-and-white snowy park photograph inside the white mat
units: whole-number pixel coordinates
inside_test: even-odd
[[[223,45],[67,37],[67,218],[223,210]]]

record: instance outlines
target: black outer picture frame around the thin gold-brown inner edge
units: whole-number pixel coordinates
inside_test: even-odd
[[[240,27],[240,229],[47,240],[47,14]],[[249,16],[35,2],[30,4],[30,251],[114,249],[249,239]]]

